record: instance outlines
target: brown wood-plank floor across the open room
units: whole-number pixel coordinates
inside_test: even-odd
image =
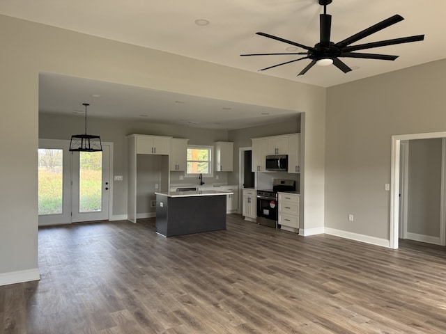
[[[11,255],[13,256],[13,255]],[[227,216],[39,230],[40,281],[0,287],[0,333],[446,333],[446,250],[300,237]]]

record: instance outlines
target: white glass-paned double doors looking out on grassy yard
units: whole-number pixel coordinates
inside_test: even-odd
[[[102,152],[70,152],[69,145],[39,141],[39,225],[109,218],[110,145],[103,144]]]

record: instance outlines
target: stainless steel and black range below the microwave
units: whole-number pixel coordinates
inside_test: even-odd
[[[277,228],[278,191],[295,191],[294,180],[274,179],[272,189],[257,191],[257,223]]]

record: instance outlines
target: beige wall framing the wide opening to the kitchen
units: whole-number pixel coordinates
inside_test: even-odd
[[[0,40],[0,285],[38,276],[39,72],[305,111],[305,224],[323,226],[325,89],[3,15]]]

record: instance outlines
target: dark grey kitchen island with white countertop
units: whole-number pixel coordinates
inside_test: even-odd
[[[169,191],[156,195],[156,232],[164,237],[226,230],[226,191]]]

